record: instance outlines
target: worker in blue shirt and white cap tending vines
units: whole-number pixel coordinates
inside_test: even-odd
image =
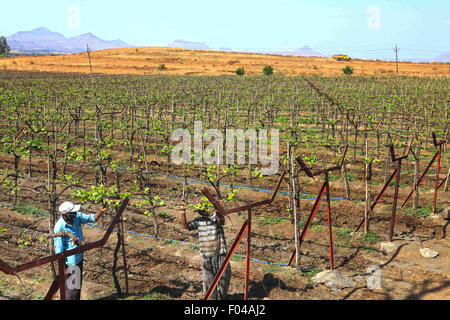
[[[54,239],[55,253],[74,249],[84,240],[82,225],[97,221],[106,207],[102,207],[95,214],[79,212],[81,205],[65,201],[59,206],[61,218],[56,222],[54,233],[67,234]],[[83,278],[83,253],[66,257],[66,300],[80,300],[81,283]]]

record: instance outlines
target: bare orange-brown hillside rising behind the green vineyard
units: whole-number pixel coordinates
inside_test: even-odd
[[[87,53],[39,57],[13,57],[0,60],[7,70],[89,73]],[[392,76],[395,62],[380,60],[336,61],[332,58],[295,57],[268,54],[190,50],[164,47],[110,49],[91,53],[92,70],[104,74],[173,74],[173,75],[233,75],[244,67],[247,75],[261,75],[265,65],[271,65],[275,74],[342,75],[349,65],[354,75]],[[158,71],[164,64],[167,68]],[[444,63],[399,63],[400,75],[448,77],[450,69]]]

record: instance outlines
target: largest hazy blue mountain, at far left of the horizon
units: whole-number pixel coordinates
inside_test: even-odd
[[[106,41],[92,33],[66,38],[61,33],[53,32],[44,27],[31,31],[19,31],[6,37],[6,41],[11,50],[25,53],[77,53],[86,51],[86,45],[89,45],[89,49],[92,51],[132,47],[120,39]]]

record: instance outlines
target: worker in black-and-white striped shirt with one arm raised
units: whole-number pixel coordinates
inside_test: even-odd
[[[225,234],[222,225],[225,217],[219,213],[207,209],[201,199],[194,201],[192,206],[199,216],[194,220],[186,221],[186,209],[182,207],[181,227],[184,229],[198,230],[200,242],[200,255],[203,257],[203,294],[209,289],[216,273],[227,254]],[[231,279],[231,267],[228,264],[214,292],[211,300],[225,300]]]

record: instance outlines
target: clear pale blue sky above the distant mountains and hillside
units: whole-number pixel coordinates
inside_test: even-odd
[[[435,57],[450,51],[449,0],[40,0],[0,5],[0,35],[47,27],[66,37],[164,46],[279,50],[304,45],[363,58]]]

